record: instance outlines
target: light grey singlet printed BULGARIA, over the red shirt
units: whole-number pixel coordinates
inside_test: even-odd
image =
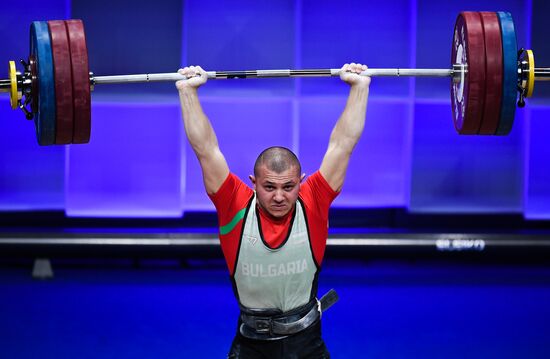
[[[237,253],[233,285],[241,306],[283,312],[317,294],[318,267],[313,258],[302,201],[298,199],[288,234],[277,248],[261,235],[254,195],[247,208]]]

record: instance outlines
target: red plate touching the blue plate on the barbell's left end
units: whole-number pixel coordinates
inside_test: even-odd
[[[48,28],[55,81],[55,143],[66,145],[73,140],[73,76],[69,39],[63,20],[48,21]]]

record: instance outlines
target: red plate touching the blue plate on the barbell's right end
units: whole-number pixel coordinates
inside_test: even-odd
[[[500,120],[502,102],[502,35],[494,12],[480,12],[485,33],[485,104],[480,135],[494,135]]]

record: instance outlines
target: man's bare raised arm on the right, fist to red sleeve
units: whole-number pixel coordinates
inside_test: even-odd
[[[330,135],[327,152],[321,163],[321,175],[335,191],[340,191],[344,184],[349,158],[359,141],[365,127],[367,99],[369,97],[370,77],[359,73],[367,66],[345,64],[340,78],[351,86],[346,107],[336,122]]]

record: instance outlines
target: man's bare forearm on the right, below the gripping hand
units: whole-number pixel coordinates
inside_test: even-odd
[[[351,87],[346,107],[332,130],[329,147],[336,146],[348,153],[353,151],[365,127],[368,96],[368,86]]]

